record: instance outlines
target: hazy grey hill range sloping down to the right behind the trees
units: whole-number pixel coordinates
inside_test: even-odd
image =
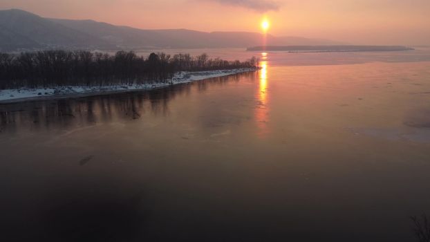
[[[23,10],[0,10],[0,50],[246,48],[261,45],[256,32],[142,30],[93,20],[47,19]],[[336,45],[325,39],[267,36],[268,45]]]

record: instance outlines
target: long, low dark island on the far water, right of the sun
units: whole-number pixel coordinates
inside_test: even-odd
[[[287,51],[291,53],[375,52],[415,50],[406,46],[255,46],[247,51]]]

